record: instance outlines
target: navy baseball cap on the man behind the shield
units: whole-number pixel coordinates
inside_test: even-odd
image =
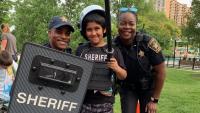
[[[74,32],[74,28],[71,23],[64,16],[54,16],[49,22],[49,29],[59,28],[61,26],[68,26],[72,32]]]

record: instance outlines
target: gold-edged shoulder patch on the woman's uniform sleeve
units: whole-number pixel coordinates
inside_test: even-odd
[[[150,41],[148,42],[148,47],[155,51],[156,53],[159,53],[161,51],[160,44],[155,38],[151,38]]]

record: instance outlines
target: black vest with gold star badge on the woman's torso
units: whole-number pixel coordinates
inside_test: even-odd
[[[115,40],[115,45],[119,47],[124,57],[128,74],[125,80],[118,80],[118,83],[131,89],[149,90],[154,87],[147,45],[151,38],[137,33],[135,39],[135,43],[129,49],[120,44],[119,37]]]

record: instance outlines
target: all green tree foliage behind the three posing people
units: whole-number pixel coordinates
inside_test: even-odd
[[[149,1],[149,2],[147,2]],[[64,15],[72,22],[75,33],[72,34],[71,45],[85,41],[77,27],[80,12],[88,5],[98,4],[104,7],[104,0],[17,0],[14,24],[17,46],[21,49],[25,42],[47,42],[48,21],[55,15]],[[112,35],[117,33],[117,14],[119,7],[136,6],[138,8],[138,30],[145,25],[144,31],[158,39],[164,48],[168,48],[170,39],[179,35],[180,30],[163,13],[155,12],[154,0],[111,0]]]

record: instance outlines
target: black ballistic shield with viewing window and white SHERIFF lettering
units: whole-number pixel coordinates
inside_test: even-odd
[[[92,62],[27,43],[8,112],[79,113],[92,70]]]

